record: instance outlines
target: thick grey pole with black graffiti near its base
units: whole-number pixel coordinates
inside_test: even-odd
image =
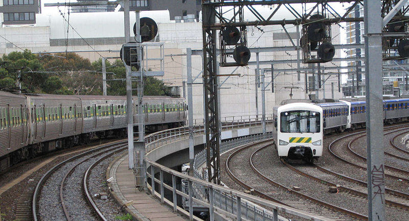
[[[382,105],[382,17],[378,1],[364,0],[367,103],[368,220],[385,220]]]

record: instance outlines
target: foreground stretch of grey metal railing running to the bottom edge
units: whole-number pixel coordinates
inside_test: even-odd
[[[256,210],[256,212],[251,213],[252,209],[250,207],[246,207],[246,205],[248,205],[248,202],[252,202],[253,204],[258,204],[258,205],[270,208],[272,210],[272,216],[270,217],[270,220],[274,220],[274,221],[278,221],[278,211],[284,211],[288,214],[302,217],[308,220],[326,220],[326,221],[330,220],[322,216],[316,216],[314,214],[304,212],[298,209],[294,209],[292,207],[288,207],[288,206],[274,203],[268,200],[264,200],[263,198],[260,198],[257,196],[249,195],[244,192],[240,192],[240,191],[230,189],[230,188],[225,188],[225,187],[216,185],[214,183],[210,183],[210,182],[198,179],[198,178],[194,178],[193,176],[189,176],[189,175],[177,172],[175,170],[162,166],[158,163],[150,161],[149,159],[146,159],[146,161],[151,166],[150,173],[148,172],[146,173],[147,177],[151,179],[151,189],[150,189],[151,194],[156,195],[157,191],[155,190],[155,183],[157,183],[159,186],[158,195],[160,195],[161,202],[164,203],[164,195],[165,195],[164,190],[168,189],[172,191],[172,196],[173,196],[172,204],[173,204],[174,212],[177,212],[177,195],[187,198],[189,202],[190,220],[194,219],[193,203],[209,208],[209,215],[210,215],[211,221],[214,220],[215,212],[222,214],[226,217],[229,217],[231,219],[236,219],[238,221],[241,221],[243,219],[264,220],[263,217],[265,217],[265,215],[264,214],[260,215],[259,214],[260,212],[258,210]],[[160,174],[159,179],[156,179],[154,178],[154,176],[151,175],[155,173]],[[165,184],[164,173],[167,173],[172,177],[172,185]],[[176,179],[177,178],[188,182],[188,194],[176,189]],[[208,200],[203,199],[203,198],[196,198],[193,195],[193,184],[202,186],[203,189],[205,189],[205,192],[207,192],[208,194],[208,197],[206,199]],[[217,194],[216,192],[218,192],[219,194]],[[228,205],[226,202],[231,202],[231,204]],[[244,202],[244,206],[242,202]],[[241,205],[241,206],[237,206],[237,205]],[[251,214],[253,214],[253,216]],[[259,219],[259,217],[261,219]]]

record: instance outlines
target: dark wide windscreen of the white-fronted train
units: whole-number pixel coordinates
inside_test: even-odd
[[[281,132],[320,132],[320,113],[288,111],[281,113]]]

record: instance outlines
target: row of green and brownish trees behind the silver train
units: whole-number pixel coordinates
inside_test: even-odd
[[[121,60],[106,61],[107,94],[126,95],[126,70]],[[20,76],[20,78],[19,78]],[[101,95],[102,60],[91,63],[75,53],[38,56],[29,50],[0,58],[0,88],[21,88],[29,93]],[[132,82],[137,88],[137,82]],[[144,95],[169,95],[170,87],[154,77],[145,78]]]

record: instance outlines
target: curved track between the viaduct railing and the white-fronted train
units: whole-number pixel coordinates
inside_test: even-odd
[[[269,179],[262,172],[260,172],[253,164],[253,157],[255,156],[255,154],[261,149],[269,146],[270,144],[263,145],[261,148],[259,148],[258,146],[260,145],[262,144],[255,143],[243,146],[233,151],[230,154],[230,156],[226,159],[225,162],[226,171],[228,171],[230,177],[240,186],[244,187],[245,189],[254,189],[254,192],[256,194],[263,198],[266,198],[267,200],[278,202],[293,208],[308,211],[313,214],[321,215],[327,218],[335,220],[351,220],[353,218],[361,220],[368,219],[368,217],[365,215],[326,203],[324,201],[318,200],[317,198],[308,196],[302,192],[293,190],[288,186],[285,186],[283,184],[280,184],[276,181]],[[251,149],[256,150],[251,151]],[[249,167],[251,167],[251,170],[247,171],[246,168],[242,168],[238,170],[237,175],[235,175],[235,172],[233,171],[234,169],[231,168],[229,165],[233,161],[232,159],[236,158],[240,152],[244,151],[246,151],[245,154],[251,153],[251,157],[249,157],[247,161]],[[243,161],[241,158],[238,159],[241,160],[241,162]],[[254,177],[254,173],[252,173],[251,171],[254,171],[257,174],[257,177]],[[252,177],[252,179],[250,180],[247,179],[246,181],[243,181],[248,177]],[[282,199],[279,200],[277,197],[278,195],[280,195],[281,198],[285,198],[285,200]]]

